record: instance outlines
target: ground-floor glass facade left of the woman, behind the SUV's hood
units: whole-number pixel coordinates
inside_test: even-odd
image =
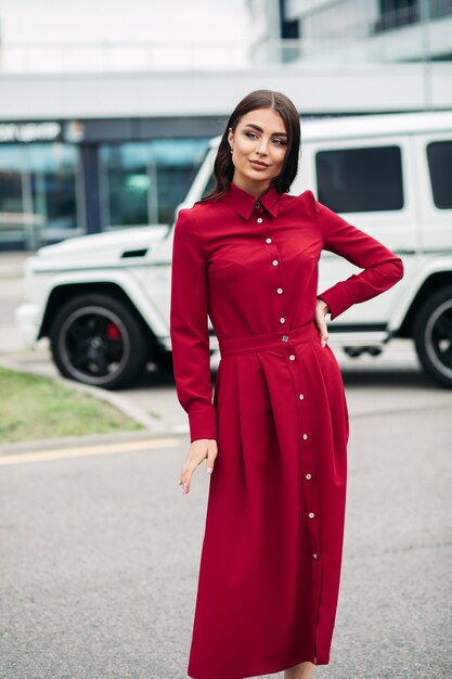
[[[0,127],[0,249],[36,249],[85,233],[170,223],[219,124]]]

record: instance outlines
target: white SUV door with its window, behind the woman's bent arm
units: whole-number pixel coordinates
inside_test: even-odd
[[[408,136],[306,141],[304,180],[318,200],[402,257],[405,281],[414,274],[419,242],[416,175]],[[320,261],[319,292],[360,269],[330,252]],[[332,332],[350,328],[384,333],[400,289],[365,305],[354,305],[331,323]],[[382,338],[384,334],[382,335]]]

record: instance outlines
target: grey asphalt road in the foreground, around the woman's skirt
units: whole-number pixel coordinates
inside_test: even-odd
[[[317,677],[452,676],[451,435],[450,407],[352,418],[339,608]],[[188,439],[164,443],[0,458],[2,679],[186,677],[209,482],[201,467],[184,497]]]

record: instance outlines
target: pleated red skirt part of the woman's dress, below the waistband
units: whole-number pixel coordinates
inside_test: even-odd
[[[313,323],[220,350],[188,674],[244,679],[327,664],[349,434],[337,360]]]

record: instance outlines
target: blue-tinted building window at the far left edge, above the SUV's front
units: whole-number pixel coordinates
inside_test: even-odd
[[[80,162],[62,142],[0,148],[0,246],[36,248],[81,233]]]

